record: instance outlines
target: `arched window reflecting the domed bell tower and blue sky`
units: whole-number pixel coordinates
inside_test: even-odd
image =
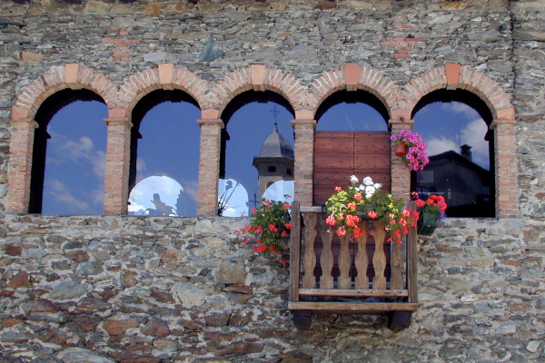
[[[293,196],[292,107],[269,91],[239,94],[225,108],[218,211],[248,215],[261,199]]]

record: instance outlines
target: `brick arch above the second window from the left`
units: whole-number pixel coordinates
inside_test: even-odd
[[[205,93],[209,84],[197,74],[185,67],[174,64],[159,64],[152,69],[146,69],[133,74],[120,87],[115,110],[111,116],[131,118],[131,113],[138,101],[146,94],[155,90],[182,90],[188,93],[199,104],[201,110],[206,108]]]

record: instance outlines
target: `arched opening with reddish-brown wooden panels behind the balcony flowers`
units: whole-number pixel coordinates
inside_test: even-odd
[[[351,175],[370,176],[390,190],[388,119],[384,104],[362,90],[333,93],[320,105],[314,132],[314,205],[326,201],[335,186],[348,185]]]

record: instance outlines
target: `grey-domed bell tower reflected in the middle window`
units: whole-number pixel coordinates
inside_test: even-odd
[[[253,157],[253,166],[257,169],[259,196],[273,183],[293,180],[293,148],[274,123],[272,133],[263,142],[262,152]]]

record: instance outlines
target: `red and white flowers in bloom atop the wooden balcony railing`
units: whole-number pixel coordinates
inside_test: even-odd
[[[352,185],[346,191],[335,187],[337,192],[325,203],[328,211],[325,222],[336,226],[335,233],[339,236],[349,233],[358,238],[366,233],[360,223],[360,214],[364,213],[373,220],[385,222],[386,230],[390,231],[388,241],[401,244],[402,236],[409,233],[409,226],[416,227],[418,212],[403,207],[401,198],[395,199],[390,193],[384,194],[381,184],[372,182],[370,177],[363,179],[361,185],[357,185],[358,182],[358,178],[352,175]]]

